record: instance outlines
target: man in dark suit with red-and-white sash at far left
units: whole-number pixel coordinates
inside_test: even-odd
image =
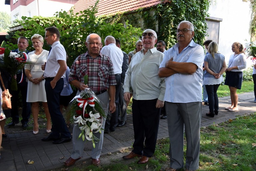
[[[26,54],[29,53],[26,48],[29,46],[29,40],[26,37],[19,37],[18,39],[18,49],[12,50],[12,52],[22,53],[26,52]],[[24,55],[24,59],[26,59],[27,56]],[[28,83],[26,82],[26,75],[25,70],[20,70],[17,74],[17,91],[11,91],[11,117],[12,122],[8,124],[8,126],[14,126],[15,124],[19,123],[19,113],[18,113],[18,96],[21,92],[22,97],[22,127],[26,128],[28,126],[29,117],[31,113],[31,106],[30,103],[27,103],[27,90],[28,90]]]

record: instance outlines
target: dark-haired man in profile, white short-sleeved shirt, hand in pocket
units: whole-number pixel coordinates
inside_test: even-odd
[[[45,29],[45,40],[51,45],[45,65],[42,65],[45,79],[45,92],[48,109],[52,120],[52,133],[42,141],[53,141],[54,144],[71,141],[71,133],[59,109],[59,96],[64,86],[63,74],[67,69],[66,50],[59,42],[59,30],[56,27]]]

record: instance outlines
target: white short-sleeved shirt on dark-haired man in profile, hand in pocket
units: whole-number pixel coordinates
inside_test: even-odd
[[[52,44],[52,49],[46,61],[44,77],[55,77],[59,70],[58,60],[66,61],[66,51],[59,41]],[[63,76],[61,77],[63,78]]]

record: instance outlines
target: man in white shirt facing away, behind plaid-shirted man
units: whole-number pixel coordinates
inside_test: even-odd
[[[116,40],[113,36],[107,36],[105,38],[105,46],[101,49],[101,53],[105,54],[110,58],[114,67],[114,74],[117,81],[116,85],[116,94],[115,94],[115,104],[116,111],[112,113],[112,117],[109,116],[106,119],[105,123],[105,133],[114,132],[118,125],[118,101],[119,101],[119,92],[121,89],[121,73],[123,65],[123,52],[120,48],[116,46]]]

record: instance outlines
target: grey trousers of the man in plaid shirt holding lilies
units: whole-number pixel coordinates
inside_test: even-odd
[[[108,92],[104,92],[100,95],[97,95],[97,97],[106,105],[106,107],[108,107],[108,103],[109,103]],[[98,159],[101,154],[105,121],[106,121],[106,118],[104,118],[103,123],[102,123],[103,130],[101,130],[101,134],[99,132],[93,133],[97,138],[100,139],[97,143],[95,143],[95,148],[92,147],[92,158],[93,159]],[[86,142],[86,140],[85,141],[82,140],[82,137],[80,137],[78,139],[78,136],[81,133],[81,130],[79,129],[79,127],[80,126],[77,123],[74,124],[73,138],[72,138],[73,151],[71,153],[72,159],[77,159],[82,156],[82,153],[84,151],[84,144]]]

